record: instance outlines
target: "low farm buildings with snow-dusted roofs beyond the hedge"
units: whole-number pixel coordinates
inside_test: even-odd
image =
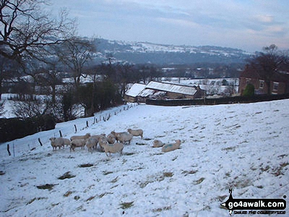
[[[133,90],[130,91],[131,89]],[[155,99],[203,98],[206,93],[204,90],[200,89],[199,86],[196,87],[196,86],[171,84],[155,81],[151,81],[146,86],[139,86],[139,84],[134,84],[131,87],[131,89],[126,93],[125,99],[127,101],[137,100],[138,102],[145,102],[147,98],[155,98]]]

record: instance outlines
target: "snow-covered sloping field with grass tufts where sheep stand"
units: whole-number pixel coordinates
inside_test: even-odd
[[[6,143],[0,145],[0,216],[221,217],[229,216],[220,206],[229,188],[234,198],[289,196],[288,99],[215,106],[141,104],[77,132],[142,128],[144,139],[134,137],[124,155],[52,151],[49,137],[61,129],[69,138],[75,135],[73,124],[86,120],[92,118],[10,142],[15,157],[7,155]],[[30,151],[38,137],[43,146],[36,143]],[[161,148],[151,147],[154,139],[180,139],[181,149],[162,154]],[[58,179],[66,172],[75,177]],[[54,186],[36,187],[46,184]]]

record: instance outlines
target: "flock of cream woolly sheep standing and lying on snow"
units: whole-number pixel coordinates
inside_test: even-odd
[[[99,151],[105,152],[108,156],[111,153],[123,154],[124,145],[130,145],[130,142],[134,136],[140,136],[143,139],[142,129],[128,129],[126,132],[115,132],[111,131],[107,136],[105,133],[98,135],[91,135],[87,133],[85,135],[71,136],[70,139],[63,137],[51,137],[50,143],[53,151],[64,149],[65,145],[70,147],[71,150],[75,152],[75,148],[88,149],[88,152]],[[173,144],[164,144],[160,140],[154,140],[153,148],[162,147],[162,152],[170,152],[179,149],[181,145],[181,140],[177,139]],[[98,147],[98,148],[97,148]]]

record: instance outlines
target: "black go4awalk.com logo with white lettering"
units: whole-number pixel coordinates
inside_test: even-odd
[[[234,199],[232,196],[232,189],[229,189],[229,193],[229,199],[221,205],[229,210],[230,215],[233,213],[249,215],[286,214],[286,211],[284,211],[286,208],[286,200],[284,199]],[[286,196],[283,197],[286,198]]]

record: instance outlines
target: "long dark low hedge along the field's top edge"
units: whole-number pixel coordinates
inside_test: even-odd
[[[161,106],[184,106],[184,105],[220,105],[220,104],[232,104],[232,103],[251,103],[251,102],[263,102],[273,101],[280,99],[288,99],[289,94],[282,95],[255,95],[252,97],[234,96],[224,98],[205,98],[205,99],[147,99],[148,105],[161,105]]]

